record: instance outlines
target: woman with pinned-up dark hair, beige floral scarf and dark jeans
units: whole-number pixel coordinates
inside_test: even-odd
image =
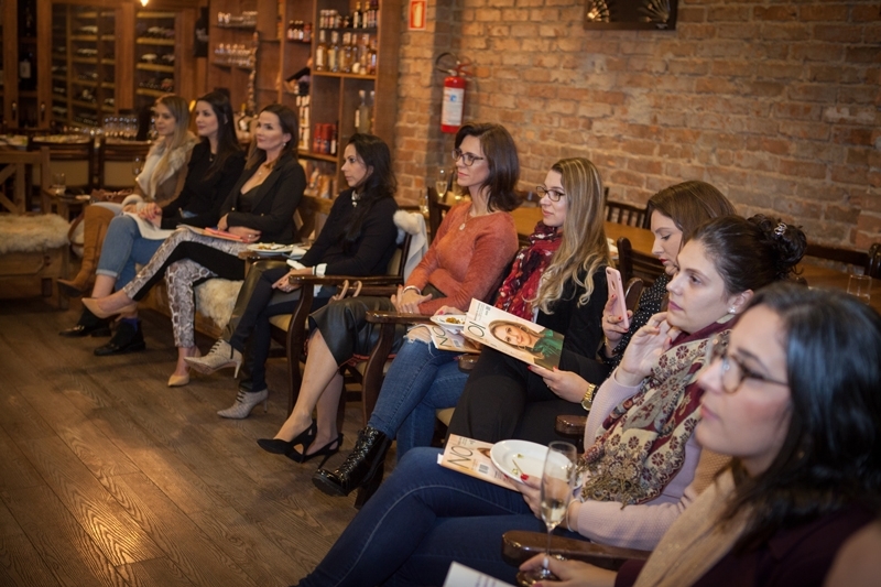
[[[805,247],[798,228],[764,216],[717,218],[692,235],[667,285],[670,309],[633,336],[594,399],[584,482],[561,525],[602,544],[657,544],[706,483],[685,489],[725,463],[693,437],[707,345],[727,344],[753,292],[788,279]],[[454,559],[513,583],[499,540],[543,530],[541,480],[511,481],[510,491],[439,467],[437,456],[410,450],[300,586],[439,585]]]

